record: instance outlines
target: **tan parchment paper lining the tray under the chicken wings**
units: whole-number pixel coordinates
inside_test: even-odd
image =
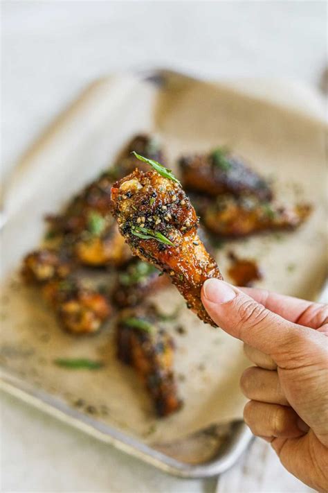
[[[284,200],[309,200],[313,216],[292,234],[229,242],[217,252],[226,272],[226,252],[258,259],[258,286],[313,298],[325,278],[325,128],[315,120],[238,94],[228,87],[167,75],[160,87],[131,77],[103,80],[86,93],[28,153],[6,190],[8,223],[3,230],[1,347],[3,365],[59,395],[97,419],[145,442],[170,442],[242,417],[239,377],[249,363],[242,344],[203,325],[185,309],[175,288],[154,296],[163,311],[181,306],[167,323],[176,342],[175,369],[185,405],[157,420],[134,372],[116,361],[111,320],[97,336],[64,334],[37,291],[21,285],[17,266],[37,247],[42,216],[98,175],[135,132],[163,139],[170,165],[182,152],[229,144],[264,175],[272,175]],[[179,335],[176,327],[186,333]],[[57,357],[102,359],[98,371],[56,367]]]

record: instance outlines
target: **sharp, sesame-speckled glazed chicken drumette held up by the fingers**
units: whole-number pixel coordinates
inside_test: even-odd
[[[111,198],[132,252],[170,275],[188,308],[215,325],[201,303],[201,286],[221,274],[199,239],[194,207],[179,182],[136,169],[113,184]]]

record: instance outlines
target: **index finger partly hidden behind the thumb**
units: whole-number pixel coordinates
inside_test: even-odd
[[[268,310],[286,320],[311,329],[319,329],[328,322],[328,308],[322,303],[313,303],[293,296],[279,295],[266,289],[239,288],[246,295]]]

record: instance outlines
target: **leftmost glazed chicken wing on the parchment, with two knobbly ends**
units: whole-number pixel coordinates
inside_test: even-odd
[[[106,297],[71,279],[74,265],[54,250],[38,250],[24,259],[22,275],[28,284],[38,284],[53,306],[64,329],[73,334],[90,334],[109,318]]]

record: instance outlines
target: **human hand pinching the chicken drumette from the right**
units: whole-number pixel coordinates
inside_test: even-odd
[[[327,306],[218,279],[203,284],[201,300],[219,327],[244,341],[257,365],[241,379],[250,399],[246,424],[271,442],[289,472],[327,491]]]

